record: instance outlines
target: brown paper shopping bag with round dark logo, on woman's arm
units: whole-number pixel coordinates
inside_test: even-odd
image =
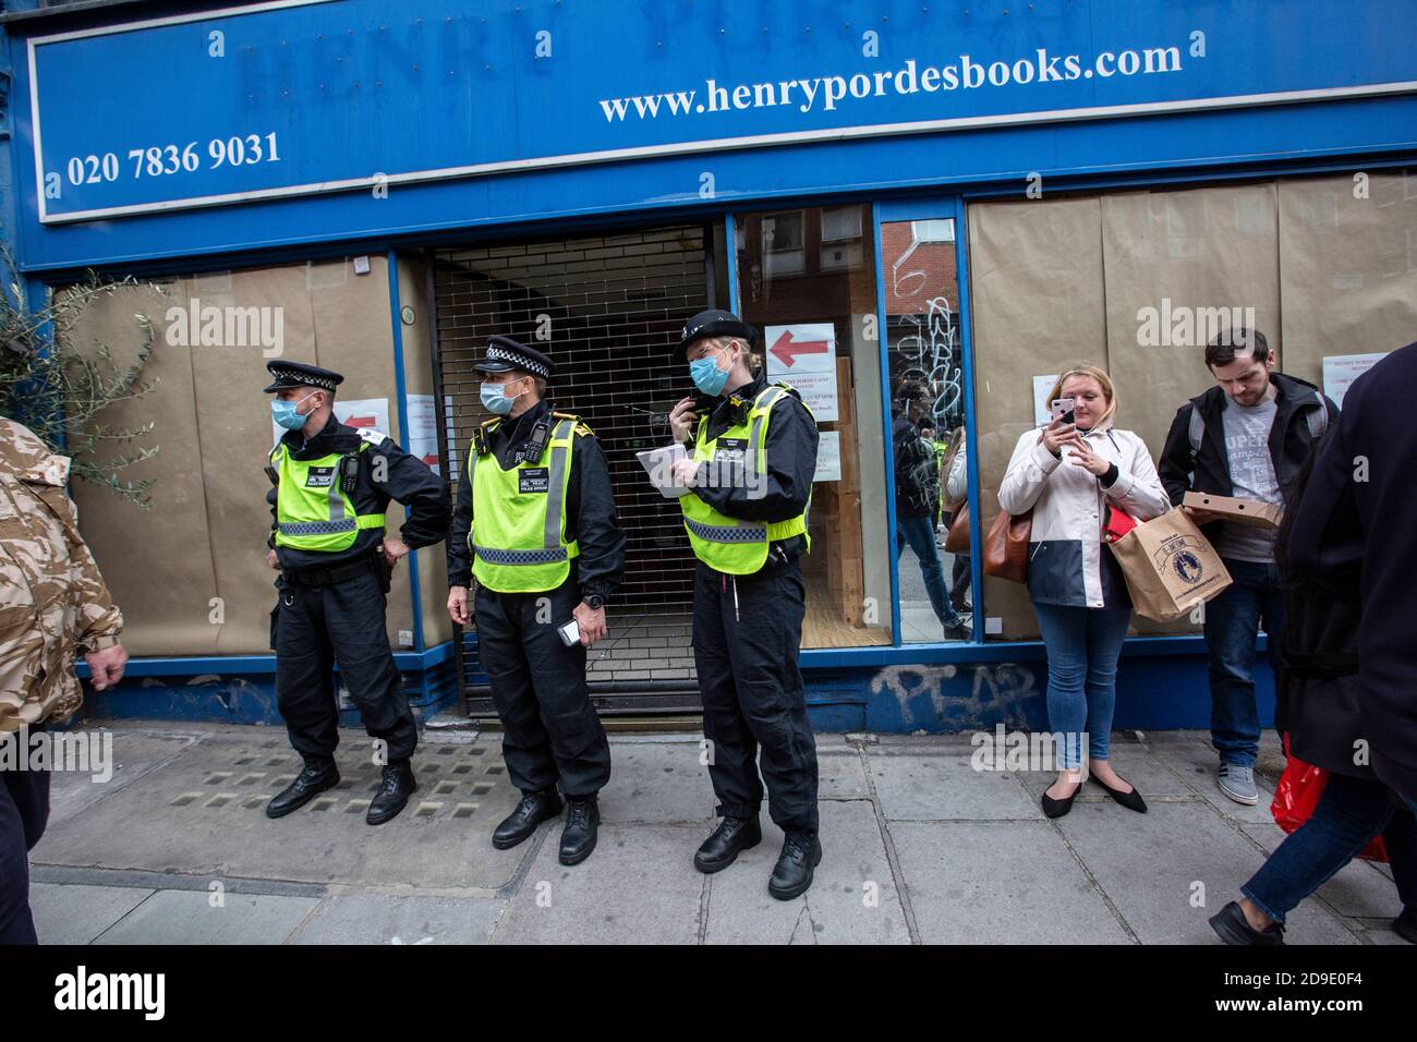
[[[1227,586],[1220,554],[1183,510],[1138,525],[1111,543],[1138,615],[1169,622]]]

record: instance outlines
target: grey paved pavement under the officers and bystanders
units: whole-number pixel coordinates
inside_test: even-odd
[[[1050,822],[1050,775],[975,771],[969,736],[819,734],[825,858],[784,903],[767,892],[782,835],[765,807],[762,845],[694,870],[714,808],[699,734],[612,736],[599,846],[563,868],[557,822],[492,848],[516,802],[495,733],[427,732],[412,804],[370,828],[361,732],[341,732],[340,788],[269,821],[299,767],[283,732],[84,726],[112,727],[118,766],[106,783],[54,775],[33,852],[47,943],[1212,944],[1207,916],[1282,838],[1272,736],[1258,807],[1219,792],[1207,736],[1119,733],[1114,763],[1151,812],[1090,785]],[[1288,940],[1401,944],[1399,910],[1386,868],[1355,862],[1292,913]]]

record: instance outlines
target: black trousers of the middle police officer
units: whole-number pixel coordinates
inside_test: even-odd
[[[502,758],[523,792],[560,781],[568,797],[592,797],[611,778],[611,744],[585,682],[585,645],[565,646],[555,632],[580,603],[574,578],[536,594],[479,586],[473,601],[478,652],[502,720]]]

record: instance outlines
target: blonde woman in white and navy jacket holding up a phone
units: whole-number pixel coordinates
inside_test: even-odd
[[[1057,379],[1049,403],[1053,420],[1019,438],[999,483],[1005,510],[1033,510],[1029,600],[1047,648],[1049,726],[1061,758],[1043,812],[1060,818],[1073,808],[1084,754],[1093,781],[1144,812],[1141,792],[1108,763],[1117,656],[1132,603],[1102,526],[1110,508],[1145,522],[1170,500],[1145,442],[1112,427],[1117,393],[1105,371],[1078,363]]]

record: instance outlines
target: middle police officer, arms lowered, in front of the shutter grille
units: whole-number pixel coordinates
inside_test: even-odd
[[[560,784],[570,804],[560,858],[578,865],[595,849],[597,794],[611,777],[585,649],[605,637],[605,601],[625,571],[625,534],[595,435],[544,401],[551,359],[493,336],[473,369],[485,374],[482,404],[495,415],[476,430],[458,483],[448,614],[459,625],[476,618],[502,754],[521,790],[492,845],[516,846],[557,817]],[[478,591],[469,611],[472,576]],[[572,622],[578,632],[563,638]]]

